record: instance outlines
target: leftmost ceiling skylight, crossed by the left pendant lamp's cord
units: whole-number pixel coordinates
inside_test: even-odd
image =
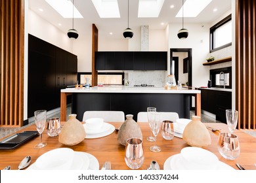
[[[45,0],[54,8],[63,18],[73,18],[72,1],[67,0]],[[74,6],[74,18],[83,18],[80,12]]]

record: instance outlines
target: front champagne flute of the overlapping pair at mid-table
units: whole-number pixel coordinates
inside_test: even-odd
[[[160,152],[161,148],[159,146],[156,146],[156,136],[160,131],[161,115],[160,115],[160,112],[152,112],[152,115],[153,115],[153,120],[150,122],[150,126],[151,126],[152,133],[155,136],[155,144],[154,146],[150,147],[150,150],[152,152]]]

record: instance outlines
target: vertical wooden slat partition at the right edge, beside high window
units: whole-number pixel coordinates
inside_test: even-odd
[[[238,128],[256,129],[255,0],[236,0],[236,110]]]

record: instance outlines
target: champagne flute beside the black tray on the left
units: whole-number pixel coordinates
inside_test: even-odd
[[[37,127],[37,131],[40,135],[40,143],[36,144],[34,148],[43,148],[47,145],[47,142],[42,142],[42,133],[45,129],[45,122],[46,122],[46,110],[36,110],[35,114],[35,125]]]

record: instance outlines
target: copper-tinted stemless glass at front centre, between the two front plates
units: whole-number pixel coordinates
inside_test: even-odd
[[[130,138],[125,146],[125,163],[131,169],[139,169],[144,161],[144,150],[142,140]]]

